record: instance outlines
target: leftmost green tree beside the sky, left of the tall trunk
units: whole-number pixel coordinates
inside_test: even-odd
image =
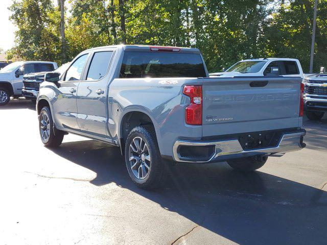
[[[18,27],[8,59],[61,61],[60,16],[51,0],[14,0],[10,19]]]

